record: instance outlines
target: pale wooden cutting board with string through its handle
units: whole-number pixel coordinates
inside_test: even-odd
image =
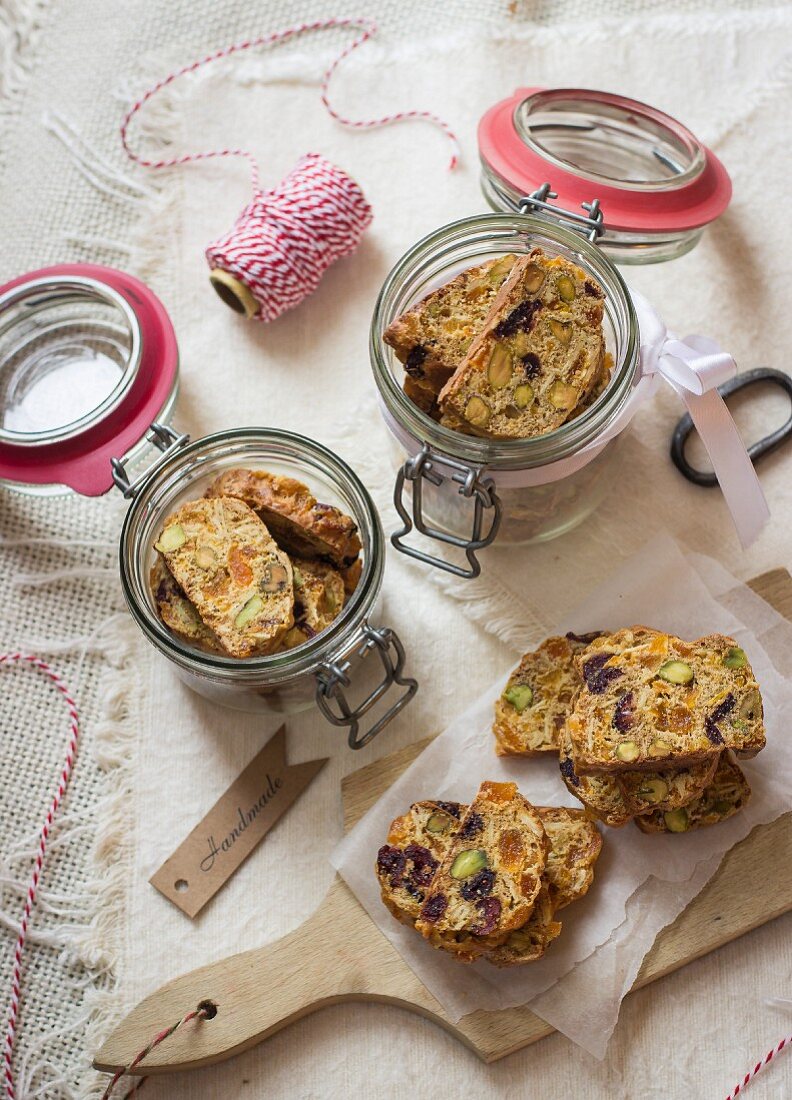
[[[750,582],[792,619],[792,578],[774,570]],[[369,765],[343,782],[350,828],[415,759],[428,740]],[[676,970],[758,925],[792,910],[792,813],[754,829],[733,848],[704,890],[663,928],[644,959],[634,989]],[[767,868],[773,867],[768,875]],[[452,1023],[341,879],[312,916],[288,936],[232,955],[162,986],[134,1008],[94,1059],[113,1072],[128,1065],[163,1027],[201,1001],[212,1020],[194,1021],[153,1050],[139,1074],[165,1074],[230,1058],[294,1020],[342,1001],[384,1001],[440,1024],[485,1062],[494,1062],[552,1032],[528,1008],[473,1012]]]

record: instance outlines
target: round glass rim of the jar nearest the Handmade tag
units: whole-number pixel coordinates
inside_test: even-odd
[[[355,590],[330,626],[294,649],[265,657],[240,659],[204,652],[183,645],[160,622],[146,602],[141,600],[133,583],[136,562],[136,539],[133,532],[142,514],[147,508],[154,507],[153,501],[156,499],[158,492],[166,484],[183,476],[196,460],[207,460],[210,457],[207,452],[215,449],[244,442],[296,448],[297,461],[306,459],[309,464],[315,465],[337,484],[342,497],[349,497],[353,502],[354,519],[361,527],[364,552],[363,568]],[[365,530],[360,524],[361,520],[365,524]],[[138,532],[140,534],[140,530]],[[342,650],[349,645],[350,638],[374,606],[382,587],[384,535],[376,507],[363,482],[352,468],[329,448],[305,436],[279,428],[231,428],[193,440],[155,464],[124,517],[120,536],[119,568],[121,587],[133,618],[145,637],[157,648],[164,649],[175,663],[189,671],[210,676],[213,673],[218,680],[221,680],[223,674],[233,674],[241,682],[249,679],[256,682],[265,680],[267,684],[276,684],[317,671],[324,661],[332,658],[336,650]],[[147,582],[144,578],[143,584]]]

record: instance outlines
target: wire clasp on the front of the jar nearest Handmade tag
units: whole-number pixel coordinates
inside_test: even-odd
[[[382,681],[354,710],[349,705],[344,689],[350,686],[349,671],[351,661],[349,657],[356,651],[359,658],[366,657],[372,650],[376,650],[383,663],[384,675]],[[391,651],[396,654],[394,662]],[[409,703],[418,691],[418,681],[403,675],[405,666],[405,651],[402,641],[388,627],[375,629],[369,624],[363,626],[363,641],[355,642],[353,650],[336,658],[333,661],[326,661],[317,673],[316,700],[319,710],[328,722],[333,726],[349,726],[349,746],[351,749],[362,749],[364,745],[373,740],[381,733],[388,722]],[[378,703],[386,691],[393,685],[399,684],[406,690],[399,695],[396,702],[388,707],[385,714],[374,723],[362,736],[359,736],[360,719],[371,708]],[[338,713],[331,707],[330,700],[334,700]]]

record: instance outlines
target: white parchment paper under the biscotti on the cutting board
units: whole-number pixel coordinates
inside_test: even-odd
[[[624,564],[558,631],[647,624],[696,638],[732,635],[749,656],[765,700],[767,748],[744,770],[747,809],[722,825],[689,834],[642,834],[601,826],[605,838],[594,884],[559,916],[563,931],[543,959],[513,970],[463,965],[431,949],[380,899],[376,851],[391,821],[421,799],[470,801],[484,779],[513,780],[537,805],[579,805],[550,759],[498,758],[491,733],[503,679],[437,737],[369,811],[332,855],[333,866],[374,922],[454,1020],[477,1009],[531,1010],[602,1057],[619,1004],[658,932],[715,872],[723,855],[759,824],[792,809],[792,625],[710,558],[685,554],[669,537]],[[541,639],[537,638],[538,644]],[[465,654],[460,653],[464,662]],[[471,675],[475,670],[471,667]]]

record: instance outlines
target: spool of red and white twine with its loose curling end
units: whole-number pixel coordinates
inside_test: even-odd
[[[343,127],[372,130],[394,122],[424,121],[439,127],[453,145],[450,167],[458,162],[459,144],[449,125],[430,111],[399,111],[378,119],[353,120],[340,114],[330,103],[328,88],[340,63],[376,33],[376,24],[365,19],[326,19],[300,23],[256,38],[238,42],[199,61],[185,65],[150,88],[130,109],[121,124],[123,147],[138,164],[147,168],[167,168],[212,157],[241,156],[251,167],[253,198],[231,229],[206,250],[210,279],[227,305],[260,321],[273,321],[311,294],[327,268],[358,248],[372,220],[372,210],[360,186],[341,168],[318,153],[301,157],[277,187],[263,189],[255,157],[246,150],[221,148],[205,153],[185,153],[162,161],[151,161],[135,153],[129,144],[129,124],[136,112],[161,89],[186,73],[211,62],[257,46],[329,29],[358,31],[326,70],[321,79],[321,101],[329,114]]]

